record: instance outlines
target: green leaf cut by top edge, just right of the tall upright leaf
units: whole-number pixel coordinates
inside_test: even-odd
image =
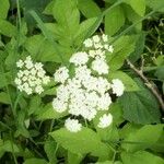
[[[101,14],[101,9],[93,0],[78,0],[78,8],[87,19],[95,17]]]

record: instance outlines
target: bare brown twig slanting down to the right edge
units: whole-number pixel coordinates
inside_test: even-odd
[[[162,110],[164,112],[164,101],[162,98],[162,95],[159,93],[154,84],[152,84],[148,78],[143,74],[142,70],[137,69],[129,60],[127,60],[127,63],[129,67],[144,81],[144,84],[150,89],[150,91],[154,94],[156,99],[159,101]]]

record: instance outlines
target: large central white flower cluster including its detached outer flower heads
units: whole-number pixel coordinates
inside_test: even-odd
[[[95,35],[84,42],[86,51],[72,55],[70,62],[74,66],[74,74],[69,75],[66,67],[59,68],[55,73],[55,81],[61,83],[57,89],[57,96],[52,107],[58,113],[68,112],[73,116],[82,116],[91,121],[98,110],[108,110],[112,104],[109,91],[121,96],[125,90],[118,79],[109,83],[103,75],[108,74],[108,65],[105,52],[113,52],[113,46],[107,44],[107,35]],[[110,115],[99,118],[99,128],[110,125]],[[72,132],[81,130],[82,125],[78,119],[67,119],[66,128]]]

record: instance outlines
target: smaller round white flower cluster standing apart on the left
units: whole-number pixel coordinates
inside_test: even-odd
[[[14,80],[17,89],[26,94],[44,92],[43,85],[46,85],[50,78],[46,75],[46,71],[43,69],[43,63],[33,62],[28,56],[25,60],[19,60],[16,67],[20,69]]]

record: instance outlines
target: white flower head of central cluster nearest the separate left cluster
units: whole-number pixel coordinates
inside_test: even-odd
[[[59,68],[54,74],[56,82],[65,83],[65,81],[69,78],[69,70],[66,67]]]

